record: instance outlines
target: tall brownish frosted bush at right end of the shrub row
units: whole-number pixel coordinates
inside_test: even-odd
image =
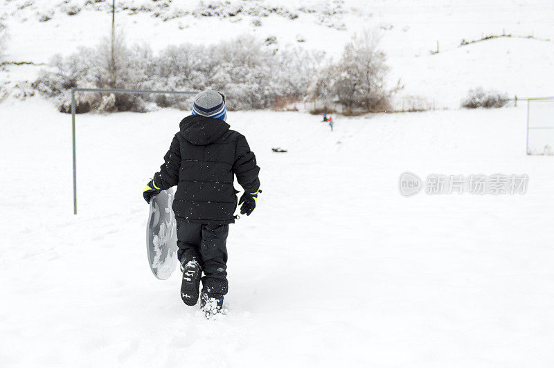
[[[391,95],[401,87],[386,87],[386,55],[378,44],[379,37],[370,31],[352,37],[339,62],[328,64],[312,82],[312,99],[337,101],[346,113],[390,110]]]

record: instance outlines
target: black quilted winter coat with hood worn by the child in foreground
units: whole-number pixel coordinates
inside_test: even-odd
[[[235,222],[238,191],[233,174],[245,192],[260,187],[260,167],[246,138],[223,120],[200,115],[187,116],[179,127],[154,183],[162,190],[177,185],[173,212],[178,219]]]

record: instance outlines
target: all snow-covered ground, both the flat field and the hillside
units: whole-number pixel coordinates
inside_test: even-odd
[[[47,63],[109,34],[107,1],[0,3],[1,61]],[[539,40],[554,39],[553,17],[550,0],[121,0],[116,21],[154,52],[253,34],[337,57],[377,29],[400,100],[440,109],[478,86],[553,95],[554,42]],[[539,39],[458,47],[503,30]],[[0,89],[42,67],[0,66]],[[229,314],[207,321],[145,254],[141,191],[184,112],[78,116],[73,216],[71,117],[14,94],[0,95],[0,367],[554,366],[552,158],[525,155],[521,104],[334,116],[333,132],[307,113],[231,112],[264,192],[230,229]],[[534,125],[551,124],[546,108]],[[527,174],[529,186],[405,198],[406,170]]]

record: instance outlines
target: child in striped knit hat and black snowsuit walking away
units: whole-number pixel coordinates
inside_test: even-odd
[[[177,255],[183,279],[181,299],[198,302],[206,315],[222,311],[228,290],[226,239],[233,213],[252,213],[258,201],[260,167],[242,134],[226,123],[225,97],[206,90],[198,93],[193,113],[179,124],[160,171],[146,185],[143,196],[152,196],[177,185],[173,212],[177,220]],[[234,176],[244,188],[237,202]]]

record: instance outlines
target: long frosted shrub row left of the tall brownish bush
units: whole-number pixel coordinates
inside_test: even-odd
[[[227,96],[227,106],[237,109],[273,107],[276,99],[298,100],[323,59],[320,53],[301,48],[272,50],[251,37],[240,37],[213,46],[169,46],[158,55],[146,46],[127,47],[118,35],[114,57],[111,42],[97,48],[80,48],[69,57],[56,56],[33,83],[40,93],[57,99],[60,111],[69,111],[73,87],[195,90],[216,89]],[[107,103],[102,95],[82,94],[78,111],[145,111],[148,103],[188,109],[181,95],[116,95]]]

